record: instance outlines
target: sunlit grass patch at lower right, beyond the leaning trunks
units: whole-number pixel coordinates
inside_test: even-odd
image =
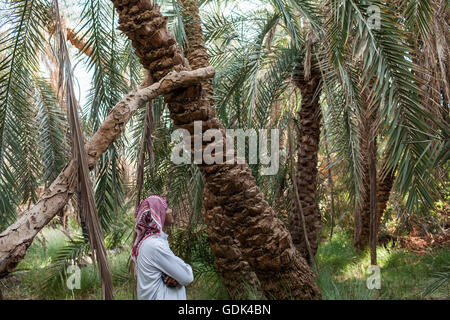
[[[318,285],[324,299],[449,299],[449,283],[424,297],[422,293],[433,282],[433,274],[442,271],[450,262],[448,248],[435,249],[418,255],[402,249],[377,248],[381,289],[369,290],[371,275],[369,251],[357,252],[352,238],[338,233],[333,241],[321,244],[317,253]]]

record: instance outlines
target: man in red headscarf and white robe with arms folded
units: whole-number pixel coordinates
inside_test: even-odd
[[[136,239],[131,256],[136,264],[138,300],[185,300],[194,280],[192,268],[169,248],[163,231],[173,223],[166,198],[150,196],[135,215]]]

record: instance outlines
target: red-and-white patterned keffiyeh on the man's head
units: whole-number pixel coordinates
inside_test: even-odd
[[[150,196],[141,202],[134,216],[136,239],[133,243],[131,257],[136,262],[139,247],[145,239],[160,235],[166,219],[167,202],[165,197]]]

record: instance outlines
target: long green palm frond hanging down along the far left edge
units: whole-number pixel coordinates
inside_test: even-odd
[[[38,53],[45,44],[45,7],[41,0],[11,1],[0,22],[0,183],[9,193],[2,197],[8,215],[14,203],[36,200],[40,168],[34,91],[28,84],[38,70]],[[13,198],[17,201],[8,201]]]

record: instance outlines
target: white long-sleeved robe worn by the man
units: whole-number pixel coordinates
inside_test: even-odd
[[[169,288],[163,273],[178,281],[180,286]],[[144,240],[137,258],[138,300],[186,300],[186,289],[194,280],[192,268],[169,248],[167,234]]]

